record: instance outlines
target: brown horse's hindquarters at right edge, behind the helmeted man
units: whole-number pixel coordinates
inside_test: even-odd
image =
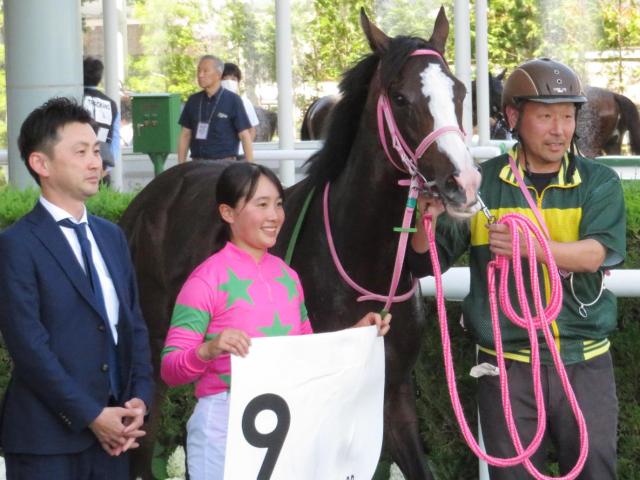
[[[640,155],[640,115],[624,95],[598,87],[585,87],[587,103],[578,112],[578,149],[587,157],[620,155],[622,139],[629,132],[631,153]]]

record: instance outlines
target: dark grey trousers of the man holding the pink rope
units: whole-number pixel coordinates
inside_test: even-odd
[[[496,365],[494,356],[479,352],[478,363]],[[526,448],[535,435],[537,409],[533,395],[531,365],[506,360],[509,391],[514,419],[522,445]],[[567,376],[582,409],[589,434],[589,455],[580,480],[614,480],[616,478],[616,439],[618,398],[609,352],[591,360],[566,366]],[[553,365],[542,365],[540,374],[547,414],[547,429],[538,452],[531,457],[542,473],[547,460],[547,447],[554,445],[560,474],[567,474],[580,452],[580,436],[571,406]],[[487,453],[496,457],[515,455],[509,436],[500,396],[498,376],[478,379],[478,407],[482,435]],[[522,466],[489,467],[491,480],[533,478]]]

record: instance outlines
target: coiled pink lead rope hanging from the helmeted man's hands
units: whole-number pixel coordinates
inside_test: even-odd
[[[549,325],[560,313],[562,308],[562,285],[560,285],[560,277],[558,274],[558,268],[551,254],[549,244],[541,233],[540,229],[528,218],[519,214],[508,214],[503,216],[498,223],[506,224],[509,226],[511,232],[511,239],[513,242],[513,273],[516,280],[516,291],[518,294],[518,301],[520,303],[520,310],[522,316],[518,316],[510,303],[510,295],[508,290],[508,277],[510,268],[510,259],[497,255],[495,260],[489,262],[487,268],[487,281],[489,285],[489,305],[491,309],[491,322],[493,326],[493,332],[495,337],[495,346],[497,354],[498,368],[500,371],[500,390],[502,394],[502,406],[505,412],[505,420],[507,422],[507,428],[509,435],[513,441],[517,455],[510,458],[498,458],[484,453],[476,439],[473,437],[467,420],[462,410],[460,403],[460,397],[458,395],[458,389],[455,381],[455,370],[453,366],[453,358],[451,355],[451,340],[449,337],[449,329],[447,325],[447,313],[444,305],[444,294],[442,290],[442,272],[440,270],[440,263],[438,260],[438,252],[436,250],[435,234],[432,231],[432,218],[430,215],[424,215],[422,218],[425,232],[429,241],[429,254],[431,257],[431,263],[433,266],[433,275],[436,283],[436,302],[438,307],[438,319],[440,321],[440,333],[442,339],[442,351],[444,356],[445,374],[447,377],[447,384],[449,388],[449,395],[451,397],[451,404],[455,413],[458,425],[462,431],[462,435],[466,440],[469,448],[473,453],[489,463],[497,467],[512,467],[514,465],[522,464],[527,471],[538,480],[547,479],[561,479],[561,480],[573,480],[575,479],[587,459],[589,450],[589,439],[587,435],[587,426],[584,420],[584,415],[578,406],[575,394],[567,378],[564,365],[560,359],[560,353],[558,352],[554,339],[549,331]],[[529,270],[530,270],[530,283],[532,289],[532,297],[535,305],[536,316],[531,315],[529,302],[527,300],[526,290],[524,286],[524,280],[522,276],[522,258],[520,256],[520,234],[524,235],[527,245],[527,253],[529,258]],[[538,282],[538,266],[535,256],[535,244],[533,237],[535,237],[544,251],[545,264],[549,272],[549,278],[551,282],[551,299],[549,304],[545,308],[542,304],[542,295],[540,293],[540,284]],[[495,285],[495,270],[500,270],[500,306],[509,320],[518,325],[521,328],[526,328],[529,335],[529,341],[531,343],[531,370],[533,376],[533,388],[534,397],[536,399],[536,406],[538,410],[538,427],[536,434],[533,437],[531,443],[526,448],[523,448],[520,436],[518,434],[516,424],[513,418],[513,412],[511,409],[511,401],[509,400],[509,384],[507,379],[507,370],[504,363],[504,351],[502,348],[502,335],[500,332],[500,321],[498,317],[498,306],[496,301],[496,294],[498,293]],[[578,423],[578,429],[580,432],[580,455],[576,461],[575,466],[571,471],[563,477],[549,477],[540,473],[535,466],[531,463],[531,455],[538,449],[542,442],[544,431],[546,428],[546,412],[544,406],[544,399],[542,394],[542,385],[540,383],[540,350],[538,346],[538,330],[541,329],[544,332],[544,337],[549,346],[549,351],[553,357],[553,363],[555,364],[558,376],[562,382],[562,388],[569,400],[571,410]]]

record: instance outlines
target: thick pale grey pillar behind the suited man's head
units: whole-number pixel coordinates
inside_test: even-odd
[[[82,99],[79,0],[5,0],[9,181],[35,185],[17,140],[27,115],[51,97]]]

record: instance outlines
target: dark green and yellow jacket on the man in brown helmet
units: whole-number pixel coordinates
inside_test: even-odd
[[[522,166],[518,168],[525,178],[531,197],[537,202],[551,239],[573,242],[592,238],[600,242],[607,255],[601,271],[574,273],[573,292],[569,279],[562,281],[563,308],[551,329],[563,361],[566,364],[588,360],[609,350],[608,335],[616,328],[617,305],[615,296],[604,290],[600,299],[586,307],[587,316],[580,314],[582,304],[589,304],[600,293],[604,271],[620,265],[626,255],[626,221],[624,196],[620,179],[607,166],[582,157],[565,155],[557,177],[540,195],[530,185]],[[513,172],[508,154],[488,160],[481,165],[482,199],[491,213],[499,219],[507,213],[521,213],[537,223],[529,208]],[[487,219],[478,212],[468,224],[455,223],[446,215],[438,222],[438,253],[442,267],[448,268],[467,248],[471,285],[463,302],[464,325],[471,332],[479,348],[495,354],[493,330],[487,291],[487,263],[492,259],[488,246]],[[525,283],[528,285],[528,269],[523,262]],[[549,295],[548,274],[538,269],[541,291]],[[513,278],[510,279],[511,299],[519,310]],[[576,299],[579,299],[580,302]],[[535,307],[530,302],[532,312]],[[529,361],[527,331],[513,325],[501,313],[500,324],[506,357]],[[551,357],[542,333],[542,361],[551,363]]]

